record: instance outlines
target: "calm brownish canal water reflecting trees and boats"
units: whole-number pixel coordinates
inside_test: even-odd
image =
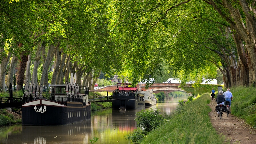
[[[178,101],[186,97],[165,100],[149,108],[158,108],[171,113]],[[148,108],[146,108],[148,109]],[[140,109],[141,110],[141,109]],[[1,144],[129,144],[125,136],[136,129],[135,113],[140,110],[101,110],[91,113],[91,120],[59,126],[22,126],[21,124],[0,127]]]

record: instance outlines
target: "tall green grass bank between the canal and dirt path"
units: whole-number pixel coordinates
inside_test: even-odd
[[[223,144],[224,136],[217,134],[212,127],[208,113],[211,108],[209,93],[185,104],[180,112],[174,113],[166,123],[150,132],[143,144]]]

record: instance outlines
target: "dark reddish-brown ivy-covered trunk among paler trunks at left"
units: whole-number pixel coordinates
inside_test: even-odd
[[[28,55],[26,56],[24,55],[23,57],[21,57],[20,68],[18,70],[16,91],[23,90],[22,86],[24,84],[24,74],[25,74],[27,61],[28,61]]]

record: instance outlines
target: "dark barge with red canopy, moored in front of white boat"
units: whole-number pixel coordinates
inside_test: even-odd
[[[120,109],[121,106],[126,109],[145,108],[144,97],[138,95],[137,87],[119,87],[113,92],[112,108]]]

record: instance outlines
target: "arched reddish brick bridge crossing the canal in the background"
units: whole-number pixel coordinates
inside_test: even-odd
[[[107,91],[115,91],[117,89],[117,86],[128,86],[128,85],[108,85],[105,87],[100,88],[99,90],[107,90]],[[154,83],[148,89],[145,89],[146,84],[137,84],[136,87],[139,91],[146,91],[151,90],[154,93],[164,92],[165,96],[168,96],[168,93],[175,92],[175,91],[183,91],[181,88],[179,88],[180,84],[173,84],[173,83]],[[190,84],[186,84],[186,87],[192,87]],[[187,92],[189,95],[192,95],[191,93]]]

